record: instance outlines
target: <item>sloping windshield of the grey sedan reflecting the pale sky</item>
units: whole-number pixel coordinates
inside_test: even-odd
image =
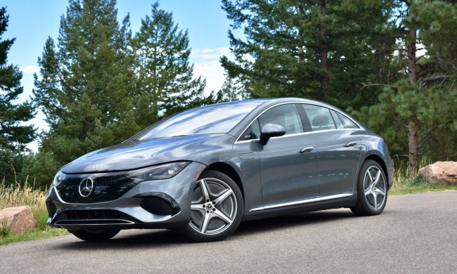
[[[194,134],[227,133],[251,110],[261,104],[260,100],[221,103],[193,108],[180,112],[146,129],[139,140],[188,136]]]

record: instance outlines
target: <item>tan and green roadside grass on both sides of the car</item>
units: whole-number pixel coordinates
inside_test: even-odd
[[[427,163],[421,163],[425,166]],[[399,164],[395,169],[394,185],[389,195],[404,195],[409,193],[425,193],[430,191],[457,190],[457,186],[445,185],[444,183],[425,181],[422,177],[416,176],[410,178],[406,166]],[[0,228],[0,246],[11,244],[13,242],[23,242],[28,240],[38,240],[47,237],[67,235],[67,230],[60,228],[51,228],[46,226],[48,213],[46,211],[46,190],[34,189],[27,182],[24,185],[16,183],[15,185],[6,186],[5,181],[0,183],[0,209],[6,207],[19,207],[28,205],[32,209],[34,218],[38,226],[34,230],[26,233],[11,233],[10,231]]]

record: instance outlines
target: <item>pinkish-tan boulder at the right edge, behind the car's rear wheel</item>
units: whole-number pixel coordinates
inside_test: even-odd
[[[435,162],[419,169],[419,174],[428,181],[457,185],[457,162]]]

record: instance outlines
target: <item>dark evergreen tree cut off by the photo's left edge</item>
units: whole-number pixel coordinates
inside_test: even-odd
[[[34,139],[33,126],[21,123],[32,119],[34,112],[28,101],[15,102],[23,91],[22,72],[17,65],[8,65],[8,51],[15,39],[1,38],[8,27],[8,18],[6,8],[0,8],[0,180],[12,182],[12,167],[16,171],[20,169],[21,152]]]

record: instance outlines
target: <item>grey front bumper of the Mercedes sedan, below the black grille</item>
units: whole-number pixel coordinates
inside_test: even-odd
[[[204,164],[192,162],[173,178],[141,182],[121,197],[105,202],[65,202],[52,186],[46,199],[47,224],[70,229],[186,226],[191,219],[193,185],[204,168]]]

